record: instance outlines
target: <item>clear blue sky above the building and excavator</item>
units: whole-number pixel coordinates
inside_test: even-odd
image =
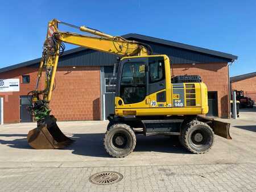
[[[230,76],[256,72],[255,10],[256,1],[241,0],[1,1],[0,68],[41,57],[47,23],[56,18],[114,36],[137,33],[230,53],[238,56]]]

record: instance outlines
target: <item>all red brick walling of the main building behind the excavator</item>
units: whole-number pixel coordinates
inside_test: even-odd
[[[5,123],[19,122],[19,96],[34,90],[36,73],[37,69],[26,67],[0,73],[0,78],[19,78],[20,82],[23,74],[30,74],[30,84],[20,84],[19,92],[0,93],[5,98]],[[218,116],[228,117],[227,64],[175,64],[174,74],[199,74],[208,91],[218,93]],[[100,67],[59,68],[51,108],[58,120],[100,119]]]

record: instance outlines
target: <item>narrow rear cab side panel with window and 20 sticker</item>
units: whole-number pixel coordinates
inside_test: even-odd
[[[150,108],[166,107],[164,57],[148,57],[148,96]]]

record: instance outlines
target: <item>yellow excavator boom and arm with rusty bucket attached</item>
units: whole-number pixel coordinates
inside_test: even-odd
[[[77,28],[86,34],[63,32],[59,24]],[[32,94],[30,111],[38,122],[38,127],[28,133],[27,140],[35,149],[64,148],[73,140],[66,137],[56,124],[56,118],[50,115],[52,91],[55,87],[55,74],[59,56],[63,53],[64,43],[78,45],[97,51],[113,53],[120,56],[146,56],[151,54],[148,45],[137,41],[126,40],[121,36],[112,36],[85,26],[74,26],[69,23],[53,19],[48,23],[46,41],[44,42],[42,59],[39,64],[35,90]],[[39,90],[40,78],[45,70],[44,89]]]

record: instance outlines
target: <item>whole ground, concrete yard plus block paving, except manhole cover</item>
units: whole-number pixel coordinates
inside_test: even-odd
[[[26,141],[35,123],[0,126],[0,191],[256,191],[256,110],[232,123],[233,140],[216,136],[212,150],[193,155],[176,137],[139,136],[135,151],[111,158],[102,140],[106,122],[59,122],[76,143],[65,150],[34,150]],[[108,186],[88,181],[103,170],[123,174]]]

